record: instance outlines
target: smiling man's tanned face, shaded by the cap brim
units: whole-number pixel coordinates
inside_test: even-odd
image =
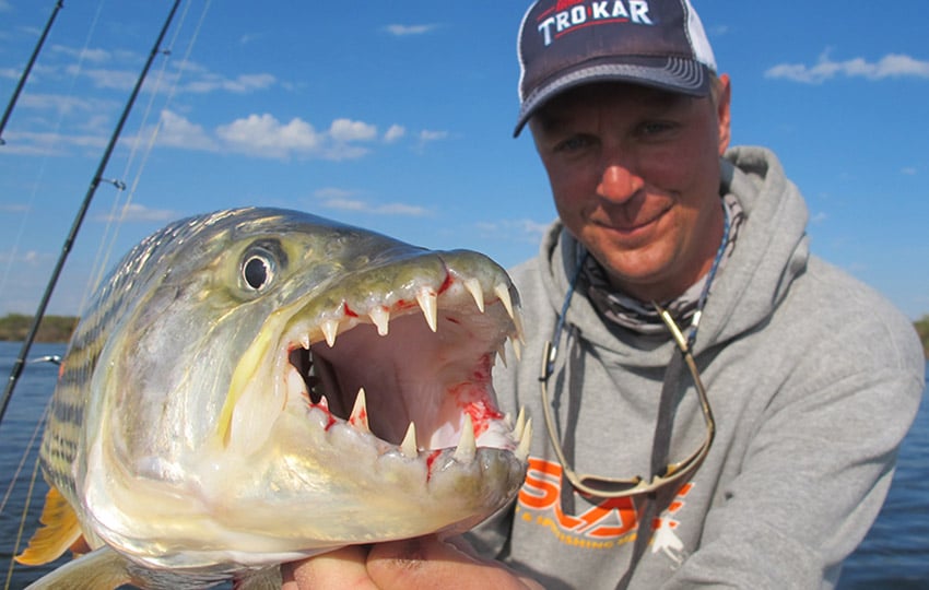
[[[581,86],[529,125],[558,215],[615,287],[663,302],[709,270],[722,238],[727,76],[715,102],[631,84]]]

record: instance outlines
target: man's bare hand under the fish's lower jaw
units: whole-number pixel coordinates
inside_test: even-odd
[[[422,536],[348,546],[283,566],[283,590],[409,590],[475,588],[544,590],[495,562],[474,556],[462,540]]]

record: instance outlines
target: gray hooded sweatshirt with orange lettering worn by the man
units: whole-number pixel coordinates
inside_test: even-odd
[[[774,154],[732,149],[722,177],[745,221],[694,345],[716,438],[696,474],[655,499],[651,543],[628,587],[832,588],[891,484],[921,398],[922,350],[883,297],[809,253],[807,208]],[[553,590],[615,588],[650,502],[574,493],[549,442],[542,346],[577,248],[555,223],[540,256],[513,272],[526,345],[494,385],[505,409],[532,416],[530,469],[516,506],[471,538]],[[549,396],[568,461],[579,473],[647,477],[670,337],[604,322],[578,287],[558,344]],[[689,376],[680,396],[672,461],[705,437]]]

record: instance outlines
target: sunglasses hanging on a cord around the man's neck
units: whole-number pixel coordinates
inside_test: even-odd
[[[571,290],[573,291],[573,288]],[[571,298],[571,291],[568,292],[567,297]],[[593,475],[589,473],[577,473],[571,464],[565,459],[564,449],[562,447],[561,440],[558,438],[558,433],[555,429],[554,418],[552,417],[552,408],[549,403],[549,391],[548,384],[552,374],[554,373],[555,367],[555,358],[557,357],[557,346],[553,344],[553,342],[557,343],[561,339],[561,332],[564,329],[564,318],[567,311],[567,300],[565,300],[565,306],[562,309],[562,314],[558,317],[558,321],[555,324],[555,330],[552,335],[551,341],[546,341],[542,354],[542,370],[539,376],[540,389],[542,392],[542,410],[545,417],[545,427],[549,430],[549,438],[552,441],[552,447],[555,449],[555,455],[557,456],[558,462],[562,465],[562,470],[564,476],[571,482],[571,484],[583,494],[587,494],[593,497],[600,498],[622,498],[628,496],[637,496],[640,494],[651,494],[657,492],[658,489],[675,484],[678,482],[682,482],[685,477],[692,475],[699,468],[703,460],[706,458],[709,452],[709,447],[713,445],[713,437],[716,434],[716,422],[713,418],[713,411],[709,408],[709,399],[706,396],[706,389],[703,386],[703,381],[699,378],[699,370],[697,369],[696,362],[694,362],[691,343],[684,338],[684,334],[681,332],[678,324],[674,322],[674,319],[671,317],[671,314],[668,312],[665,308],[662,308],[658,304],[652,304],[661,316],[661,319],[665,321],[665,324],[671,331],[671,334],[674,337],[674,342],[678,344],[678,349],[682,355],[683,362],[687,365],[687,369],[690,369],[691,377],[693,378],[694,386],[696,388],[697,396],[699,397],[699,404],[703,411],[704,422],[706,424],[706,437],[703,440],[703,444],[697,448],[694,452],[687,456],[684,460],[668,463],[667,467],[660,471],[660,473],[655,474],[650,481],[646,481],[642,476],[635,476],[631,479],[615,479],[615,477],[604,477],[601,475]],[[699,314],[699,311],[697,311]],[[695,318],[694,324],[698,321],[698,317]],[[675,352],[677,354],[677,352]],[[672,361],[673,363],[674,361]]]

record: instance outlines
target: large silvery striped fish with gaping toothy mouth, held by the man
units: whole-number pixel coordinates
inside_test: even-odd
[[[463,532],[526,475],[531,420],[492,385],[521,341],[484,255],[283,209],[172,223],[75,328],[16,559],[83,539],[34,588],[280,588],[282,563]]]

